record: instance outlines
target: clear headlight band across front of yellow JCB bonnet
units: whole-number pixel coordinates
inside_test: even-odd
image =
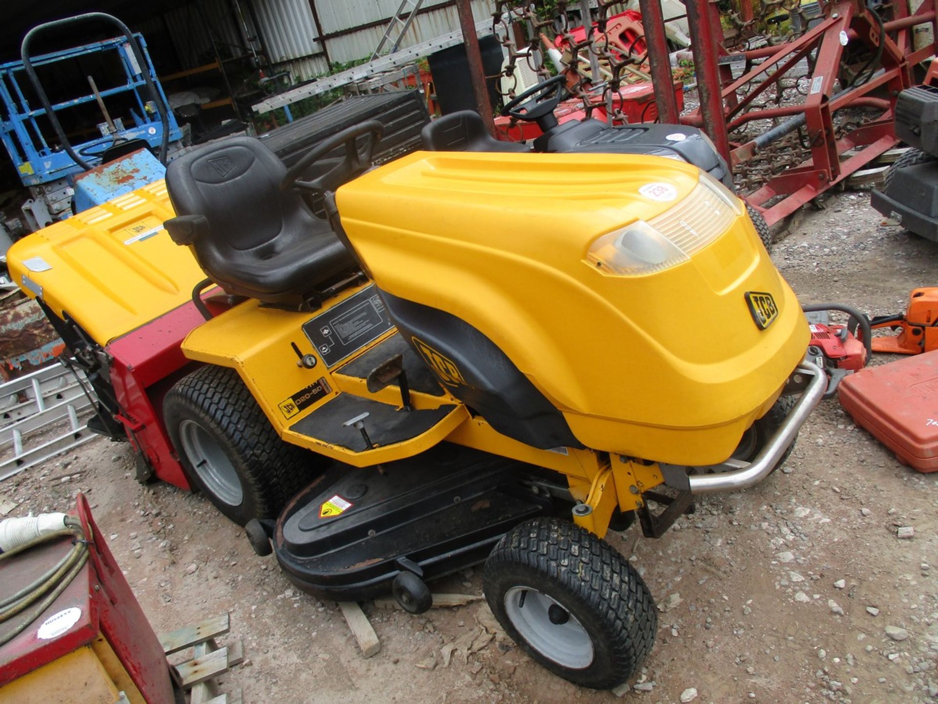
[[[686,262],[726,232],[744,212],[723,184],[701,172],[693,191],[651,220],[630,222],[598,237],[586,260],[616,276],[642,276]]]

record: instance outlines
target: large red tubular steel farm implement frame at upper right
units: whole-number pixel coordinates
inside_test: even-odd
[[[718,151],[731,166],[735,166],[754,158],[763,145],[759,139],[743,145],[731,144],[728,138],[730,130],[751,120],[804,115],[810,158],[798,167],[771,178],[762,188],[747,196],[750,204],[763,211],[769,224],[791,214],[896,144],[892,128],[896,96],[912,84],[915,64],[934,53],[934,44],[913,51],[910,30],[921,23],[931,23],[934,27],[935,0],[926,0],[914,14],[910,14],[901,3],[895,4],[894,19],[883,25],[885,34],[881,33],[880,23],[862,0],[826,3],[825,19],[802,37],[778,46],[734,54],[728,53],[718,42],[722,28],[714,0],[688,0],[687,8],[701,107],[681,117],[682,123],[703,127]],[[743,17],[749,19],[751,4],[748,0],[743,0],[742,10]],[[660,43],[658,31],[657,23],[645,26],[646,38],[653,52]],[[889,36],[893,33],[895,39]],[[844,39],[863,42],[871,51],[882,45],[880,64],[884,71],[854,90],[834,95],[833,86],[840,74]],[[753,99],[814,51],[817,55],[810,76],[809,96],[804,104],[744,112]],[[725,58],[720,60],[727,56],[747,61],[748,70],[739,79],[733,80],[729,62]],[[757,58],[765,60],[752,66],[752,60]],[[769,69],[776,70],[766,75]],[[752,85],[753,82],[757,83]],[[745,84],[752,87],[749,94],[740,99],[737,91]],[[874,92],[885,97],[871,95]],[[847,132],[840,140],[836,139],[834,113],[859,106],[879,109],[881,114]],[[844,158],[847,151],[857,146],[864,148]],[[764,207],[770,200],[777,202]]]

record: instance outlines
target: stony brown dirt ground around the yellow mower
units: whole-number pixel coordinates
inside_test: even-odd
[[[938,245],[884,226],[862,192],[806,210],[774,258],[804,302],[873,314],[938,283]],[[96,439],[29,469],[0,483],[0,504],[18,504],[10,515],[64,510],[79,491],[157,631],[231,612],[248,660],[223,689],[243,688],[252,704],[616,700],[490,640],[482,603],[419,617],[365,604],[382,650],[363,659],[335,604],[292,588],[203,497],[135,482],[124,445]],[[829,400],[784,472],[697,506],[658,541],[637,527],[611,534],[662,609],[623,700],[677,702],[690,687],[718,703],[938,700],[938,474],[900,465]],[[900,540],[899,527],[915,537]],[[434,590],[480,594],[480,572]],[[454,641],[477,651],[457,648],[445,666]]]

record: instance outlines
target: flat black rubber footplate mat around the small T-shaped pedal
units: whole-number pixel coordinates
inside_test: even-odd
[[[300,435],[315,437],[330,445],[340,445],[352,451],[363,452],[368,450],[368,446],[361,431],[354,426],[346,427],[343,424],[345,421],[368,413],[364,422],[371,443],[391,445],[427,432],[455,408],[456,406],[440,406],[430,410],[404,411],[378,401],[353,396],[351,393],[342,393],[306,418],[296,421],[290,426],[290,430]]]

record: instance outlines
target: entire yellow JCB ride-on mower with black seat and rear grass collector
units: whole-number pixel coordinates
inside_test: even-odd
[[[638,516],[657,537],[694,495],[779,465],[826,386],[807,322],[742,202],[694,165],[423,151],[370,169],[380,134],[289,170],[251,138],[206,145],[171,163],[172,211],[147,187],[23,240],[10,268],[89,370],[99,422],[140,454],[168,435],[174,480],[300,589],[392,589],[418,613],[426,580],[484,560],[508,635],[614,687],[657,615],[606,532]],[[189,302],[162,214],[208,277]],[[154,408],[161,426],[134,417]]]

